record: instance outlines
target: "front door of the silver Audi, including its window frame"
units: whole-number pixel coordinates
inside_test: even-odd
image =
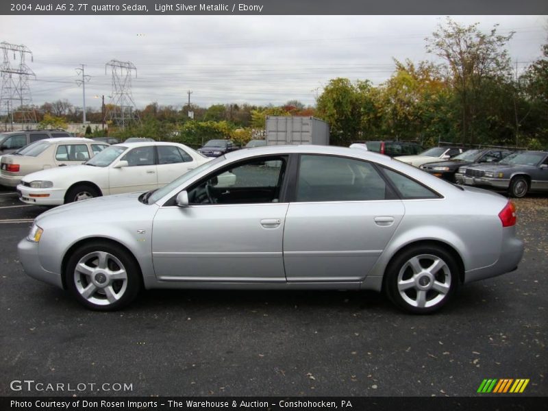
[[[282,240],[288,203],[282,186],[287,163],[286,156],[234,163],[192,184],[188,207],[162,206],[152,232],[158,279],[285,283]],[[232,182],[221,184],[227,174]]]

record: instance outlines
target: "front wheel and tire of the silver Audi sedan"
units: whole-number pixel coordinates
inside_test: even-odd
[[[102,241],[76,249],[66,264],[64,279],[79,303],[97,311],[124,308],[142,288],[133,256],[119,245]]]

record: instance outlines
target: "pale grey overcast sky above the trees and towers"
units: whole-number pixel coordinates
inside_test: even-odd
[[[454,16],[485,31],[515,31],[508,44],[519,71],[540,57],[547,16]],[[138,108],[151,101],[313,105],[329,79],[369,79],[394,71],[393,58],[436,60],[424,38],[445,16],[0,16],[0,41],[26,45],[36,73],[35,104],[68,99],[82,106],[75,68],[86,64],[86,105],[112,94],[105,62],[133,62]],[[105,97],[108,102],[108,97]]]

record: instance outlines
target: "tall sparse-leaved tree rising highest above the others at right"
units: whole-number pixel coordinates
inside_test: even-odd
[[[445,25],[438,25],[431,38],[426,38],[427,51],[443,58],[448,64],[449,79],[460,97],[462,143],[473,144],[476,123],[482,118],[479,105],[482,83],[486,79],[508,79],[510,59],[504,49],[514,32],[508,36],[497,34],[497,25],[485,34],[479,23],[464,27],[447,17]]]

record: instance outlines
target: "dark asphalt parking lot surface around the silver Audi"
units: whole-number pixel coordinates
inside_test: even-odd
[[[548,395],[548,197],[515,202],[519,269],[432,316],[347,291],[153,290],[101,313],[23,273],[17,242],[46,209],[0,190],[0,395],[43,395],[10,389],[32,379],[86,384],[77,395],[469,396],[485,378]]]

